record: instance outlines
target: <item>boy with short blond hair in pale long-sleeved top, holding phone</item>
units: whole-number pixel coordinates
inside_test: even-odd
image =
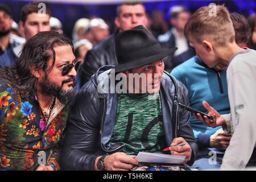
[[[216,11],[212,11],[212,8]],[[226,126],[230,121],[232,138],[225,151],[221,170],[245,169],[256,166],[252,156],[256,143],[256,51],[241,48],[235,42],[235,32],[225,6],[200,7],[185,25],[185,35],[200,59],[209,68],[227,69],[228,95],[232,119],[221,117],[203,102],[214,116],[209,121],[197,113],[209,126]],[[228,122],[229,123],[229,122]]]

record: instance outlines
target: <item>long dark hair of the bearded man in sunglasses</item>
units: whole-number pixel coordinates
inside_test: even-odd
[[[46,71],[47,63],[51,58],[53,58],[53,64],[49,66],[53,67],[54,48],[66,45],[70,45],[74,51],[73,44],[67,36],[54,31],[39,32],[28,39],[15,65],[0,69],[0,80],[11,84],[24,97],[34,96],[38,91],[36,88],[38,78],[32,74],[31,68]]]

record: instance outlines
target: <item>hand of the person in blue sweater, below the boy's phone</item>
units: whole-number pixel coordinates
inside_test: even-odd
[[[213,148],[226,148],[229,146],[231,135],[224,133],[222,129],[217,130],[210,136],[210,147]]]

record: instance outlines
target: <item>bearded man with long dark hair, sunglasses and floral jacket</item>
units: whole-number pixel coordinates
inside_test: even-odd
[[[40,32],[0,70],[0,170],[57,170],[76,71],[71,41]]]

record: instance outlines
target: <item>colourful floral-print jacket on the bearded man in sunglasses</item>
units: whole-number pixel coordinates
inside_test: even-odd
[[[35,170],[42,163],[60,169],[58,143],[68,108],[57,101],[46,125],[36,97],[23,98],[0,81],[0,170]]]

